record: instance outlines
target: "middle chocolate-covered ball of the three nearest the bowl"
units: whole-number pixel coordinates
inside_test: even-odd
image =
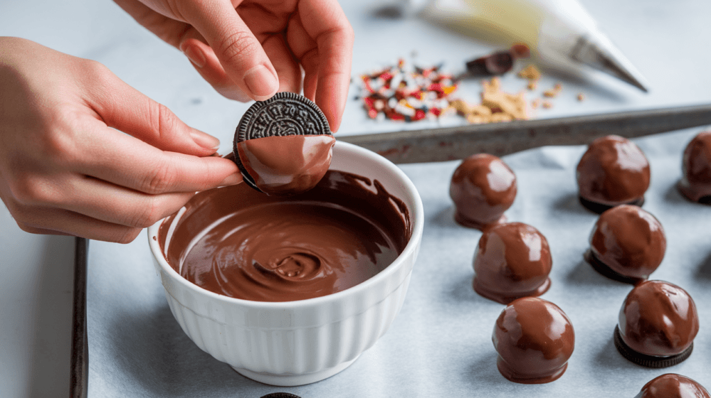
[[[540,296],[550,287],[550,247],[525,223],[502,223],[484,231],[474,255],[474,290],[501,304]]]

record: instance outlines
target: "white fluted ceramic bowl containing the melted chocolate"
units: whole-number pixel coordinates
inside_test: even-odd
[[[385,270],[350,289],[295,302],[253,302],[209,292],[188,282],[148,241],[168,304],[183,331],[205,352],[237,372],[269,385],[324,380],[351,365],[383,336],[405,301],[422,241],[424,214],[415,185],[392,162],[343,142],[333,147],[331,169],[378,179],[410,211],[412,237]]]

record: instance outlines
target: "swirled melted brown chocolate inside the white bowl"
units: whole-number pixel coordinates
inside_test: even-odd
[[[238,184],[196,194],[159,243],[173,269],[218,294],[264,302],[325,296],[390,265],[412,233],[377,180],[329,170],[314,189],[267,197]],[[166,250],[167,245],[167,250]]]

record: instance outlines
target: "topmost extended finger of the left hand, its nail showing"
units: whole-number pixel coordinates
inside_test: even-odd
[[[105,67],[87,79],[87,102],[107,126],[117,128],[156,148],[188,155],[215,153],[220,140],[183,123],[166,106],[141,94]]]

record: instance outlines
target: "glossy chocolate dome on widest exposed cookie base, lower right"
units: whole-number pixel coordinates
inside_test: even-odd
[[[619,313],[622,341],[637,353],[665,357],[689,348],[699,331],[696,304],[682,288],[659,280],[638,284]]]

